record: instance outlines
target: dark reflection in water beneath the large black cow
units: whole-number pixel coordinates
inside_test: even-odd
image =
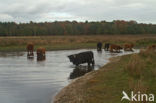
[[[88,72],[94,70],[94,66],[76,66],[73,72],[70,73],[70,79],[75,79],[77,77],[83,76]]]

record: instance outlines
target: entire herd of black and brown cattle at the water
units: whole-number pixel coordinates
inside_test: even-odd
[[[102,51],[103,44],[101,42],[97,43],[97,51],[101,52]],[[123,47],[120,45],[116,44],[111,44],[111,43],[105,43],[104,45],[104,50],[109,51],[111,53],[120,53],[121,49],[124,51],[132,51],[133,52],[134,44],[129,43],[125,44]],[[27,45],[27,57],[28,58],[34,58],[34,45],[33,43],[29,43]],[[156,49],[156,45],[151,45],[147,48],[148,50],[151,49]],[[40,47],[37,49],[36,54],[37,54],[37,61],[42,61],[46,59],[46,50],[43,47]],[[88,63],[88,66],[92,64],[94,66],[95,61],[94,61],[94,54],[92,51],[86,51],[86,52],[81,52],[78,54],[72,54],[68,56],[70,62],[72,62],[74,65],[78,66],[83,63]]]

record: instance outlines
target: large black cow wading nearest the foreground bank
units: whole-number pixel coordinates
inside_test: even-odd
[[[88,66],[90,64],[94,65],[94,54],[92,51],[69,55],[68,58],[76,66],[83,63],[88,63]]]

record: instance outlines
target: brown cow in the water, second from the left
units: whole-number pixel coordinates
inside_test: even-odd
[[[45,60],[45,57],[46,57],[45,51],[46,51],[46,49],[42,48],[42,47],[37,49],[37,60],[38,61]]]

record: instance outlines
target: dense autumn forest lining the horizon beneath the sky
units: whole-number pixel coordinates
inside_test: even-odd
[[[156,34],[155,24],[136,21],[55,21],[35,23],[0,22],[0,36]]]

